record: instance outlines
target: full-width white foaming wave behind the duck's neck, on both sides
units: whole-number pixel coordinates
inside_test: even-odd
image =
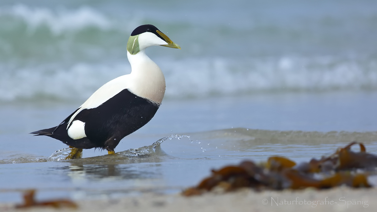
[[[376,90],[377,60],[336,57],[155,59],[166,78],[166,98],[253,92]],[[169,61],[169,62],[167,62]],[[0,101],[85,100],[107,81],[129,74],[128,61],[1,67]]]

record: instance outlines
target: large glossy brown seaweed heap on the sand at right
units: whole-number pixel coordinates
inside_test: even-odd
[[[351,151],[351,146],[359,144],[360,152]],[[305,189],[314,187],[326,189],[340,185],[350,187],[370,187],[367,174],[354,174],[353,169],[374,169],[377,156],[366,152],[362,143],[352,142],[320,160],[296,165],[284,157],[270,157],[267,163],[257,165],[253,161],[243,161],[238,166],[226,166],[205,178],[196,187],[182,192],[185,196],[200,195],[215,187],[224,191],[241,187],[260,189]],[[314,178],[322,174],[322,179]]]

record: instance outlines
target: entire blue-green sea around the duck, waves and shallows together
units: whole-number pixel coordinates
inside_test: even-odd
[[[129,74],[127,40],[143,24],[182,50],[147,49],[164,101],[115,150],[171,139],[116,162],[90,159],[106,154],[93,149],[46,159],[66,145],[28,133]],[[376,37],[373,0],[2,0],[0,201],[20,201],[14,189],[25,188],[42,198],[177,192],[210,168],[276,154],[307,161],[353,140],[377,153]]]

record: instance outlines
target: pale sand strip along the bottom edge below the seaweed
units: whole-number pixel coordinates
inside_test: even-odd
[[[137,197],[77,201],[76,211],[376,211],[377,189],[338,187],[329,190],[262,191],[242,189],[227,194],[183,197],[179,194],[144,194]],[[297,202],[296,202],[297,200]],[[21,211],[0,204],[2,211]],[[24,209],[22,211],[25,211]],[[72,211],[72,209],[31,208],[26,211]]]

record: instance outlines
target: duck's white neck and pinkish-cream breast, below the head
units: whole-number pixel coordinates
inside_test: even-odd
[[[129,91],[139,97],[161,104],[166,88],[165,77],[161,69],[145,54],[145,49],[135,55],[127,51],[127,58],[131,64]]]

